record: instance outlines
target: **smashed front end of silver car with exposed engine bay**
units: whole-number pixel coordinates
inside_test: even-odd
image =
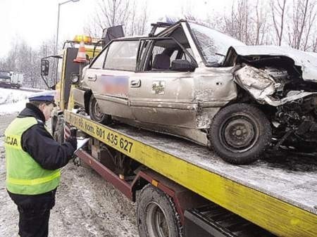
[[[270,119],[275,148],[284,145],[316,152],[317,74],[314,77],[312,72],[317,64],[308,65],[316,59],[302,52],[302,60],[298,55],[295,60],[290,54],[278,56],[278,52],[242,56],[231,51],[231,56],[235,58],[234,81]]]

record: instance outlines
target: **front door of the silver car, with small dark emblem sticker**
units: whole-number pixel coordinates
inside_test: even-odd
[[[165,44],[162,43],[164,40],[166,40]],[[194,72],[170,70],[173,56],[180,55],[178,50],[173,51],[173,45],[180,50],[174,39],[154,39],[148,41],[147,46],[140,50],[140,58],[143,58],[140,59],[142,60],[140,64],[149,65],[149,68],[145,66],[142,72],[138,73],[139,87],[133,88],[130,85],[132,88],[129,91],[129,99],[132,113],[136,120],[142,123],[194,128],[197,108],[192,94]],[[160,56],[168,50],[168,56]],[[168,57],[169,63],[160,61]],[[159,64],[158,68],[151,68],[154,63]],[[163,67],[167,65],[168,68],[164,69]]]

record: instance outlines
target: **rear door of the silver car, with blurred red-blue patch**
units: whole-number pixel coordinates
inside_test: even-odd
[[[102,52],[105,55],[102,68],[96,68],[93,64],[87,70],[85,77],[88,87],[92,89],[103,113],[134,119],[128,90],[130,78],[135,75],[138,47],[138,39],[113,41]]]

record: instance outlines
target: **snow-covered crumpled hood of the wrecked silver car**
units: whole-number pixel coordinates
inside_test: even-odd
[[[294,60],[295,65],[302,67],[303,79],[317,82],[317,56],[285,46],[232,46],[240,56],[286,56]],[[229,51],[230,51],[229,49]],[[316,53],[317,55],[317,53]]]

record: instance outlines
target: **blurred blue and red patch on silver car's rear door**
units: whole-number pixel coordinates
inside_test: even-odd
[[[106,94],[117,96],[128,95],[128,76],[101,75],[101,84]]]

